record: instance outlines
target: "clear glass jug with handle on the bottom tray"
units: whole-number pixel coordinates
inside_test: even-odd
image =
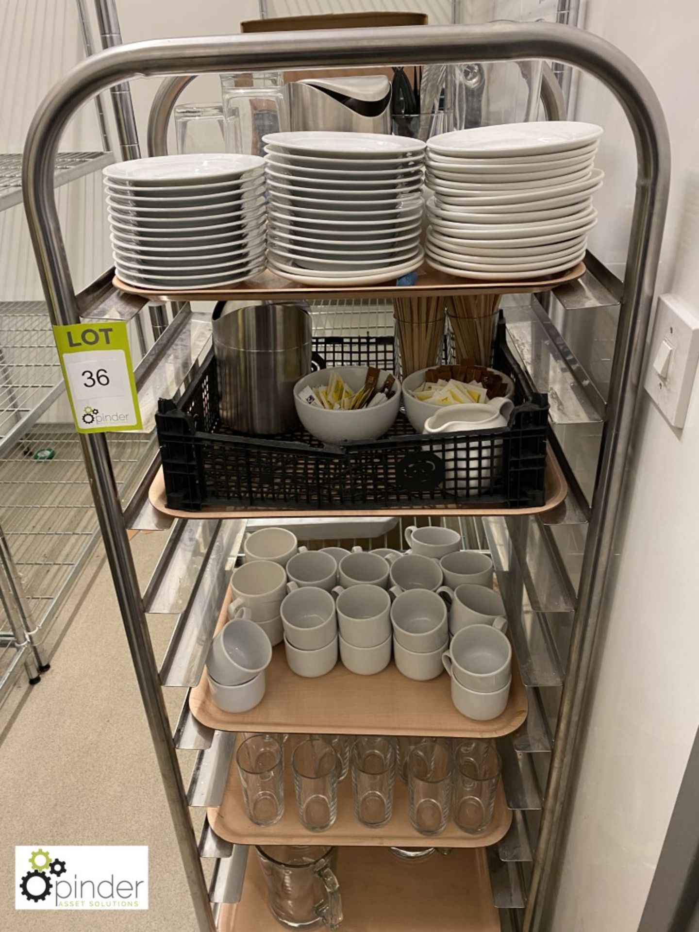
[[[342,923],[336,847],[265,844],[255,850],[267,884],[267,906],[281,925],[336,929]]]

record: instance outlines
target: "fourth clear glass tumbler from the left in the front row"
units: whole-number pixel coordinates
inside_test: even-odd
[[[410,823],[421,835],[446,828],[451,808],[451,747],[448,741],[422,741],[407,760]]]

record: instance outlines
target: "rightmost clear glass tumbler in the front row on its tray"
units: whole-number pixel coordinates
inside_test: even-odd
[[[461,831],[477,835],[493,817],[500,755],[491,741],[463,741],[454,749],[452,811]]]

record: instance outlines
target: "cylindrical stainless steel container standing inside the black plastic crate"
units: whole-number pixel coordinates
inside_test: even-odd
[[[244,433],[283,433],[298,427],[294,386],[310,372],[311,322],[297,304],[213,310],[213,353],[219,408],[228,427]]]

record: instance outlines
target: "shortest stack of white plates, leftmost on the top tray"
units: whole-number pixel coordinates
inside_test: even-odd
[[[141,288],[211,288],[265,267],[258,156],[135,158],[103,169],[117,275]]]

